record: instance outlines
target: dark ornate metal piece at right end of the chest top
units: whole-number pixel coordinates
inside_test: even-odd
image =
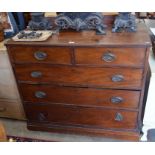
[[[135,16],[131,12],[120,12],[116,17],[112,32],[136,32]]]

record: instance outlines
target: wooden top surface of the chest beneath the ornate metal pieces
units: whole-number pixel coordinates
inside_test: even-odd
[[[143,23],[137,24],[137,32],[112,33],[107,28],[106,35],[96,35],[95,31],[64,31],[52,35],[42,42],[15,42],[10,39],[6,45],[32,46],[151,46],[147,27]]]

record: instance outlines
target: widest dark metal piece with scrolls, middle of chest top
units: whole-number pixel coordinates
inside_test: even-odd
[[[102,13],[97,12],[62,12],[55,19],[57,29],[96,30],[96,34],[106,34]]]

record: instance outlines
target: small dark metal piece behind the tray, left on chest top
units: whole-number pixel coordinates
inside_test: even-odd
[[[33,12],[31,13],[32,20],[29,22],[28,26],[31,30],[51,30],[52,23],[47,18],[44,17],[43,12]]]

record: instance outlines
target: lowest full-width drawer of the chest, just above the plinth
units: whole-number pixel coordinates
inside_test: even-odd
[[[79,108],[56,104],[39,106],[27,104],[25,108],[28,120],[42,123],[134,129],[137,122],[137,112],[134,111]]]

